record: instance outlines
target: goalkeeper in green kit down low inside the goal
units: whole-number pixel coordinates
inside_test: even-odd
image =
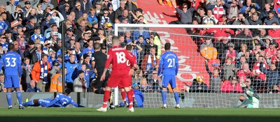
[[[246,79],[247,82],[247,79]],[[251,82],[251,81],[250,81]],[[260,97],[253,93],[253,89],[249,88],[246,84],[241,83],[240,86],[244,87],[245,94],[247,96],[239,96],[239,100],[242,102],[241,105],[237,106],[239,108],[258,108]]]

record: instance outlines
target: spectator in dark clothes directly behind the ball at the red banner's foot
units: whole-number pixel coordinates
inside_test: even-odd
[[[189,92],[208,92],[208,86],[202,81],[198,80],[198,77],[196,79],[193,79],[193,84],[190,86]]]

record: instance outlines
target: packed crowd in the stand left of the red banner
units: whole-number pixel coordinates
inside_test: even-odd
[[[15,45],[22,58],[22,91],[62,92],[64,70],[65,87],[91,92],[101,75],[92,63],[94,45],[99,43],[106,54],[112,47],[114,24],[146,24],[142,13],[132,0],[2,0],[0,54],[8,52],[9,43]],[[134,82],[140,91],[159,92],[158,76],[153,73],[161,53],[158,34],[144,28],[120,30],[121,45],[134,47],[132,53],[141,68]],[[5,91],[2,82],[1,91]]]

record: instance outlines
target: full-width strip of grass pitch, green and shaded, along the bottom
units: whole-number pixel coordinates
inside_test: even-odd
[[[42,108],[25,109],[0,108],[1,121],[279,121],[280,109],[158,109],[136,108],[134,113],[127,108],[116,108],[107,112],[97,112],[96,108]]]

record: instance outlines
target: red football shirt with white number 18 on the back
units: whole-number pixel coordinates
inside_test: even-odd
[[[128,76],[130,67],[134,66],[136,59],[134,55],[120,46],[114,46],[108,51],[105,68],[112,63],[111,77]]]

